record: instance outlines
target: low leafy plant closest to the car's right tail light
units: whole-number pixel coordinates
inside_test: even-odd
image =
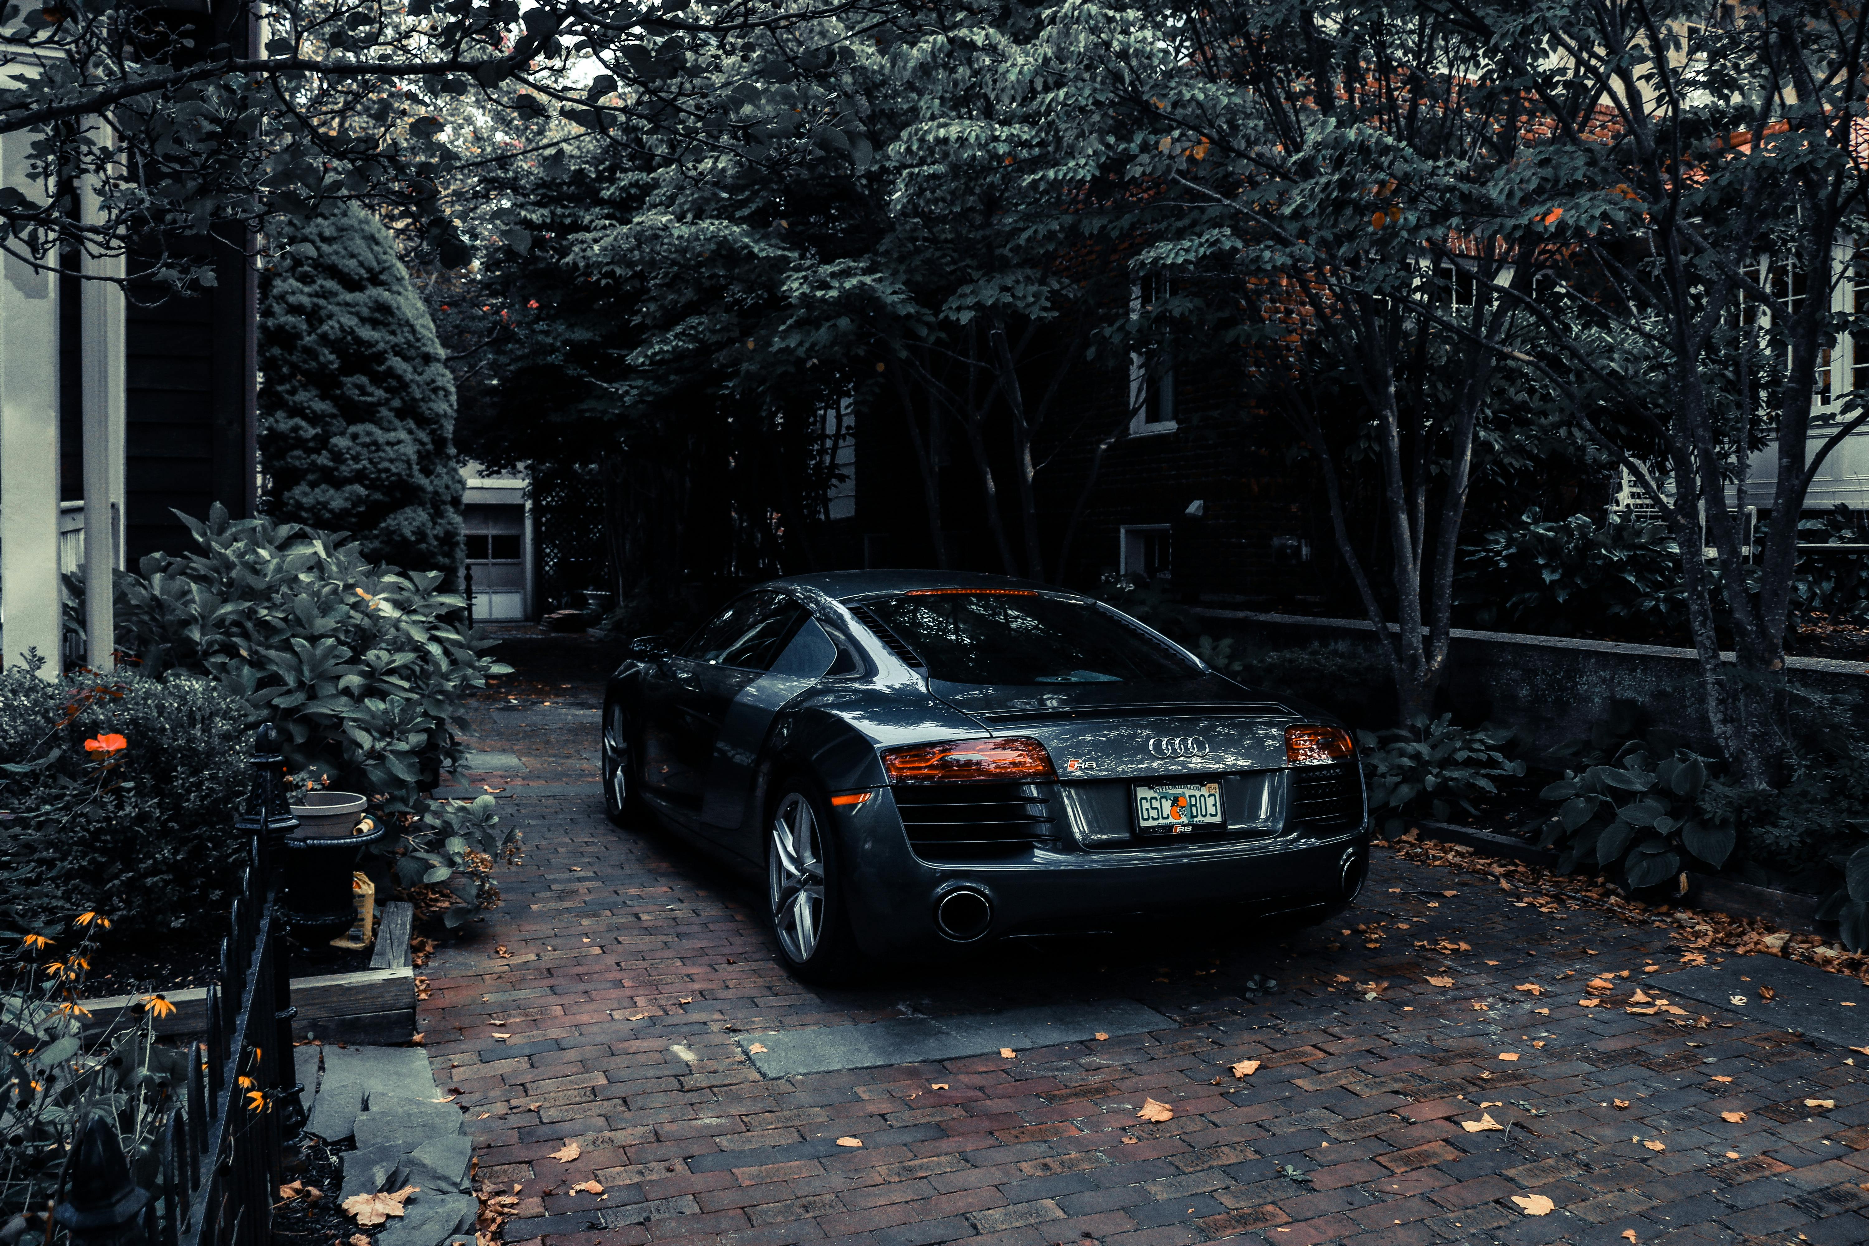
[[[1518,779],[1525,762],[1508,760],[1503,747],[1512,732],[1495,727],[1454,727],[1450,714],[1428,721],[1415,715],[1409,727],[1370,734],[1357,732],[1363,775],[1370,788],[1372,809],[1391,809],[1407,814],[1422,803],[1434,818],[1445,822],[1460,805],[1467,813],[1475,796],[1491,796],[1499,788],[1493,779]],[[1400,829],[1402,816],[1389,826]]]

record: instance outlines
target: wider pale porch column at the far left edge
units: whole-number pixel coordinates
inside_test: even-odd
[[[0,185],[34,200],[32,135],[0,136]],[[22,243],[9,243],[22,248]],[[58,678],[58,280],[0,256],[0,665]]]

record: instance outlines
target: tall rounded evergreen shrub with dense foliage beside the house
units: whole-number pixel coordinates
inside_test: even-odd
[[[454,381],[389,232],[333,205],[260,299],[260,460],[271,516],[357,534],[364,559],[462,566]]]

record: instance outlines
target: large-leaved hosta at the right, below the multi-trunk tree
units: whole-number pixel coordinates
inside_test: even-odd
[[[1738,833],[1725,814],[1708,809],[1716,788],[1705,757],[1675,749],[1654,760],[1632,742],[1613,762],[1566,772],[1544,788],[1544,800],[1559,801],[1559,809],[1542,842],[1559,850],[1559,871],[1619,872],[1632,891],[1693,863],[1718,871]]]

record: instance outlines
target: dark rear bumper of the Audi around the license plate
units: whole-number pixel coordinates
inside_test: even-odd
[[[1368,867],[1370,828],[1123,850],[1041,850],[1028,859],[931,863],[914,856],[890,801],[837,811],[854,932],[871,956],[920,956],[1020,934],[1108,928],[1125,917],[1248,908],[1329,908],[1346,865]],[[944,934],[936,910],[957,891],[991,917],[972,938]]]

